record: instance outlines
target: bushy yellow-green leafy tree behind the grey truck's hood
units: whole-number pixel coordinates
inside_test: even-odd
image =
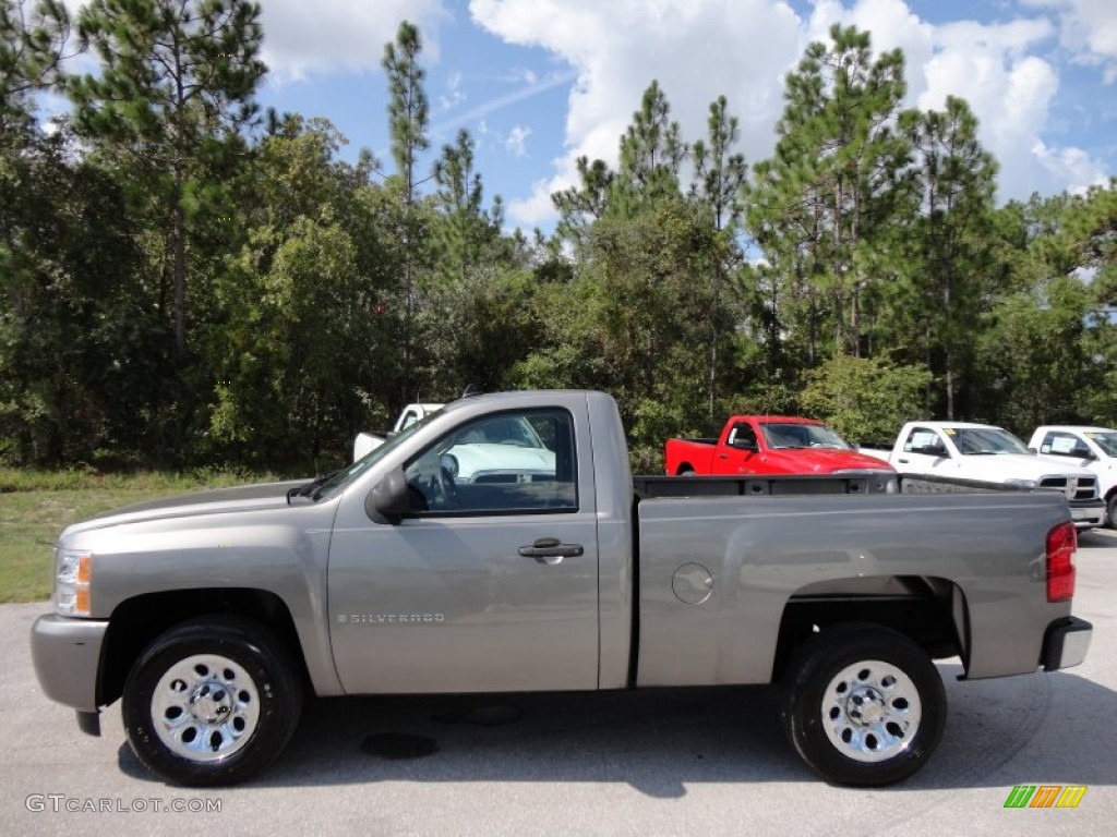
[[[244,242],[214,282],[207,452],[318,466],[398,397],[394,201],[371,160],[336,158],[344,137],[327,121],[276,128],[241,175]]]

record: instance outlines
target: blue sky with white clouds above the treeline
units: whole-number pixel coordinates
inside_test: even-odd
[[[80,4],[69,0],[71,6]],[[966,98],[1001,164],[999,198],[1117,174],[1115,0],[261,0],[260,103],[331,119],[390,161],[384,44],[420,27],[432,163],[461,127],[509,227],[550,230],[550,193],[585,154],[614,164],[658,79],[684,137],[725,95],[750,163],[768,156],[783,77],[833,22],[907,57],[908,104]]]

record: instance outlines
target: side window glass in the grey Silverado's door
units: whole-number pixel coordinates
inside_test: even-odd
[[[404,469],[419,513],[577,511],[573,417],[564,410],[487,415],[439,439]]]

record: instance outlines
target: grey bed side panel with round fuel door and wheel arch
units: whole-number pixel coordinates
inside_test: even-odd
[[[968,606],[968,675],[1034,671],[1046,595],[1043,494],[653,499],[639,504],[640,685],[766,683],[784,606],[821,581],[935,576]],[[695,566],[697,565],[697,567]],[[703,597],[709,574],[708,597]]]

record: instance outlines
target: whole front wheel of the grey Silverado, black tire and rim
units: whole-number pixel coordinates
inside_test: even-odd
[[[244,781],[271,763],[298,725],[297,671],[275,634],[250,619],[176,625],[147,646],[125,682],[132,751],[178,785]]]

